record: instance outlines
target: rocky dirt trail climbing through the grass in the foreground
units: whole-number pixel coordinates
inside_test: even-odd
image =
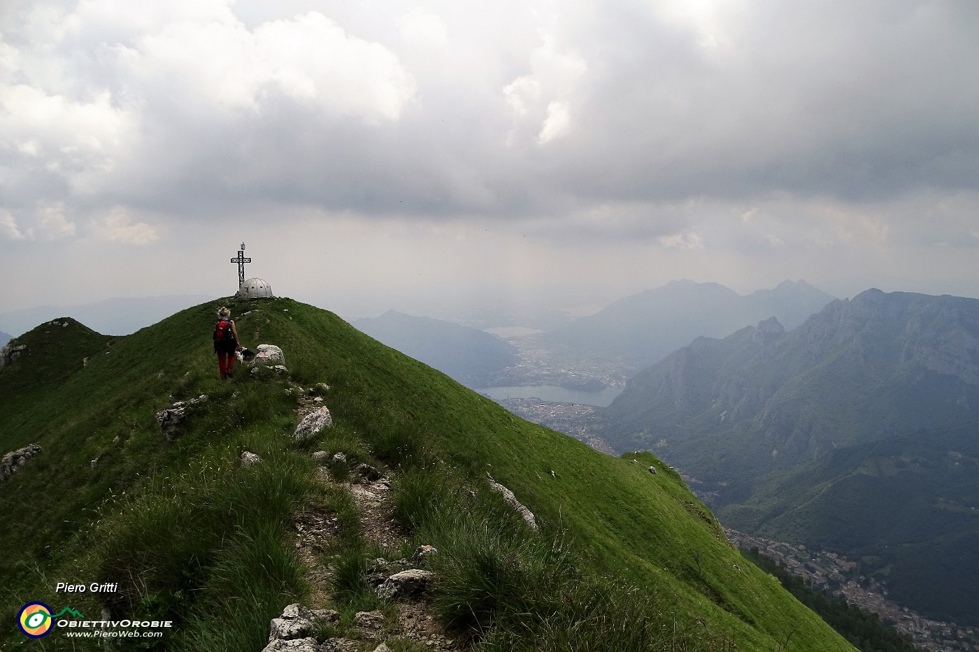
[[[319,384],[303,389],[290,383],[299,393],[299,426],[294,439],[313,437],[332,427],[324,396],[329,388]],[[346,451],[350,452],[350,451]],[[388,556],[403,549],[408,537],[394,517],[391,488],[392,469],[376,469],[367,464],[349,465],[342,450],[318,450],[316,480],[327,491],[343,490],[356,508],[361,536],[368,549],[387,550]],[[351,468],[352,467],[352,468]],[[335,477],[332,469],[342,469],[347,478]],[[341,473],[340,475],[345,475]],[[336,568],[332,561],[341,537],[341,519],[323,506],[312,505],[296,515],[296,551],[305,565],[310,594],[306,605],[292,604],[269,624],[269,642],[261,652],[414,652],[438,650],[463,652],[467,641],[445,632],[439,623],[428,586],[434,578],[426,570],[426,557],[437,554],[432,546],[421,546],[410,559],[377,558],[367,562],[367,581],[383,606],[373,611],[356,612],[346,622],[336,610],[333,582]],[[349,620],[349,618],[348,618]]]

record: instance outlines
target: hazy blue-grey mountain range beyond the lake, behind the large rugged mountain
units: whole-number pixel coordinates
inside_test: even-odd
[[[642,368],[697,336],[724,337],[772,316],[791,330],[834,299],[805,281],[784,281],[747,296],[718,283],[671,281],[544,333],[539,341]]]

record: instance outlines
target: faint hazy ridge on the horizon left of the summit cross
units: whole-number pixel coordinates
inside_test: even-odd
[[[206,295],[172,295],[117,297],[79,305],[41,305],[0,313],[0,329],[18,336],[37,324],[58,317],[71,317],[105,335],[129,335],[157,323],[177,310],[212,299],[213,297]]]

